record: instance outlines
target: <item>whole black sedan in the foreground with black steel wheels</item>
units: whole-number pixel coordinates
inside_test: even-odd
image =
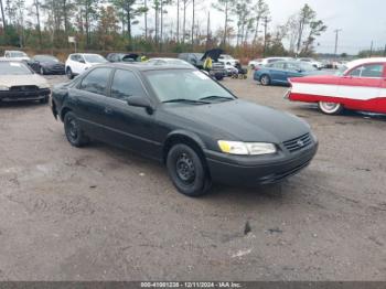
[[[52,97],[71,144],[98,139],[161,161],[190,196],[212,182],[281,181],[307,167],[318,148],[302,119],[237,99],[194,68],[98,65],[56,86]]]

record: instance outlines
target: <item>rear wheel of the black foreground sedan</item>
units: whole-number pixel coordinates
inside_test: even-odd
[[[68,111],[64,116],[64,132],[66,135],[66,138],[68,142],[76,147],[81,148],[89,142],[89,139],[86,137],[86,135],[83,132],[79,121],[77,120],[76,116]]]

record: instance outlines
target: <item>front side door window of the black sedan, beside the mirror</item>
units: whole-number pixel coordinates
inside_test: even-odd
[[[130,96],[146,96],[142,85],[132,72],[117,69],[111,84],[111,97],[126,100]]]

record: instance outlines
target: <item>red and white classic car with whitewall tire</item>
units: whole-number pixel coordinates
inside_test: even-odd
[[[286,98],[318,103],[328,115],[343,108],[386,114],[386,57],[353,61],[336,75],[296,77],[290,84]]]

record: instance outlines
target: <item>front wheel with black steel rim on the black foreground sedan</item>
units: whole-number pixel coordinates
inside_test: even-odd
[[[169,175],[178,191],[187,196],[207,193],[211,180],[204,160],[190,146],[174,144],[167,159]]]

